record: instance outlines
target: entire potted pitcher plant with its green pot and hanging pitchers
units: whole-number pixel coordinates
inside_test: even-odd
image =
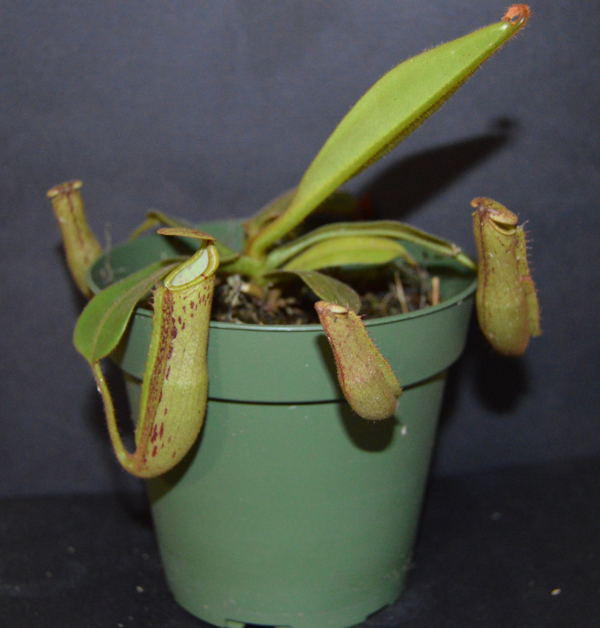
[[[540,333],[525,235],[488,198],[471,203],[478,265],[400,222],[311,220],[351,215],[354,199],[337,188],[411,133],[528,14],[512,6],[391,70],[298,187],[233,232],[154,212],[102,255],[80,182],[48,193],[74,279],[95,293],[75,346],[92,365],[117,459],[148,479],[170,587],[198,617],[342,628],[400,593],[445,371],[476,288],[495,349],[519,355]],[[160,235],[140,236],[158,224]],[[102,376],[108,355],[139,408],[135,452]]]

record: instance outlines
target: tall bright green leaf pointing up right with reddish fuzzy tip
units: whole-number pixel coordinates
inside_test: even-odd
[[[515,5],[503,18],[506,21],[427,50],[376,82],[325,142],[302,177],[292,203],[256,236],[248,254],[262,257],[331,192],[412,133],[527,17],[526,6]]]

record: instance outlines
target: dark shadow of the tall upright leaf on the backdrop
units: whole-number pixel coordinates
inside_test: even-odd
[[[479,137],[432,148],[396,162],[364,190],[371,197],[373,217],[398,220],[410,214],[507,146],[518,126],[514,120],[499,118],[488,133]]]

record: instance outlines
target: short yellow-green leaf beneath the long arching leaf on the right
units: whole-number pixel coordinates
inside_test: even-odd
[[[332,266],[354,264],[387,264],[396,257],[403,257],[415,264],[408,251],[395,240],[373,236],[343,236],[317,242],[291,259],[283,270],[312,271]]]

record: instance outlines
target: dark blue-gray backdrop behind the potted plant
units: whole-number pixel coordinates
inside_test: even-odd
[[[149,208],[247,215],[297,183],[396,63],[498,21],[491,0],[4,2],[0,8],[0,493],[139,487],[112,460],[72,347],[82,307],[45,198],[84,181],[90,223],[124,239]],[[600,5],[545,0],[529,26],[385,160],[352,181],[382,217],[474,250],[469,202],[532,235],[543,336],[521,359],[473,326],[435,470],[600,452]]]

